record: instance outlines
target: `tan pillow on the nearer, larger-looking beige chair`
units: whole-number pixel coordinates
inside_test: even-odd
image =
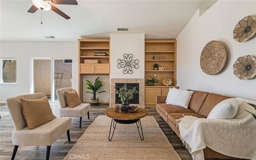
[[[56,118],[56,116],[52,114],[52,109],[47,97],[37,100],[20,99],[20,101],[22,113],[29,129],[34,129]]]

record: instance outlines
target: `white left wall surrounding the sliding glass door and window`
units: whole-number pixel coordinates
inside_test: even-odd
[[[0,101],[29,94],[30,58],[54,57],[73,59],[73,86],[78,90],[77,42],[1,42],[0,57],[17,57],[17,84],[0,84]]]

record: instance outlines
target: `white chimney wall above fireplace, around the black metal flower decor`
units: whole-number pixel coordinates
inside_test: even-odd
[[[139,60],[139,68],[132,68],[132,74],[124,74],[123,68],[117,68],[117,60],[123,60],[123,54],[133,54],[132,59]],[[110,78],[143,78],[145,63],[144,34],[110,34]]]

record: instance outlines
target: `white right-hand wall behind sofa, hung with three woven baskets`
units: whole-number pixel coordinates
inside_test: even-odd
[[[177,85],[181,89],[255,99],[255,77],[240,80],[233,74],[238,57],[256,55],[256,36],[239,43],[233,39],[233,29],[239,20],[255,13],[256,1],[218,1],[200,17],[197,11],[177,37]],[[200,68],[201,52],[211,40],[220,41],[228,52],[225,68],[214,76]]]

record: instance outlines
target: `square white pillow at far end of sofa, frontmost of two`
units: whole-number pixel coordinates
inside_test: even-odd
[[[189,101],[194,91],[185,91],[172,88],[170,98],[166,104],[172,104],[184,108],[188,108]]]

